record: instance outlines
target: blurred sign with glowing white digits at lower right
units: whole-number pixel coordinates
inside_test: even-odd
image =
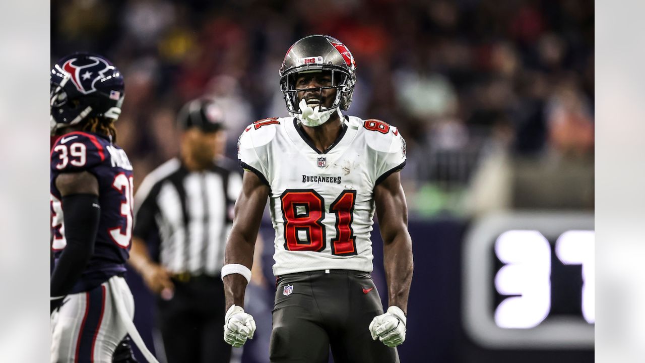
[[[488,349],[593,349],[593,214],[478,220],[462,256],[462,321]]]

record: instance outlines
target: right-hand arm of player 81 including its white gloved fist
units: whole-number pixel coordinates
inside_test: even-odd
[[[412,238],[408,233],[408,206],[399,172],[374,188],[376,213],[383,240],[383,260],[388,282],[388,311],[370,324],[372,338],[395,347],[405,340],[408,294],[412,283]]]

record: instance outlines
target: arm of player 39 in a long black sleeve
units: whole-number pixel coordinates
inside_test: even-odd
[[[74,287],[90,257],[99,229],[99,182],[87,171],[57,176],[56,188],[63,197],[63,222],[67,244],[50,281],[51,312]]]

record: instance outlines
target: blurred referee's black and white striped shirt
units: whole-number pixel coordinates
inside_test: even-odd
[[[132,233],[148,241],[158,234],[159,263],[172,273],[215,276],[241,189],[232,161],[191,172],[178,158],[168,160],[146,176],[134,197]]]

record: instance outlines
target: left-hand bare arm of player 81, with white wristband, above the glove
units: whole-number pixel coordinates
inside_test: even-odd
[[[244,171],[242,192],[235,202],[235,218],[226,243],[226,264],[241,264],[250,269],[253,265],[253,251],[257,233],[260,229],[264,206],[269,195],[269,187],[258,176]],[[244,291],[247,280],[243,275],[226,275],[224,293],[226,309],[235,304],[244,306]]]

